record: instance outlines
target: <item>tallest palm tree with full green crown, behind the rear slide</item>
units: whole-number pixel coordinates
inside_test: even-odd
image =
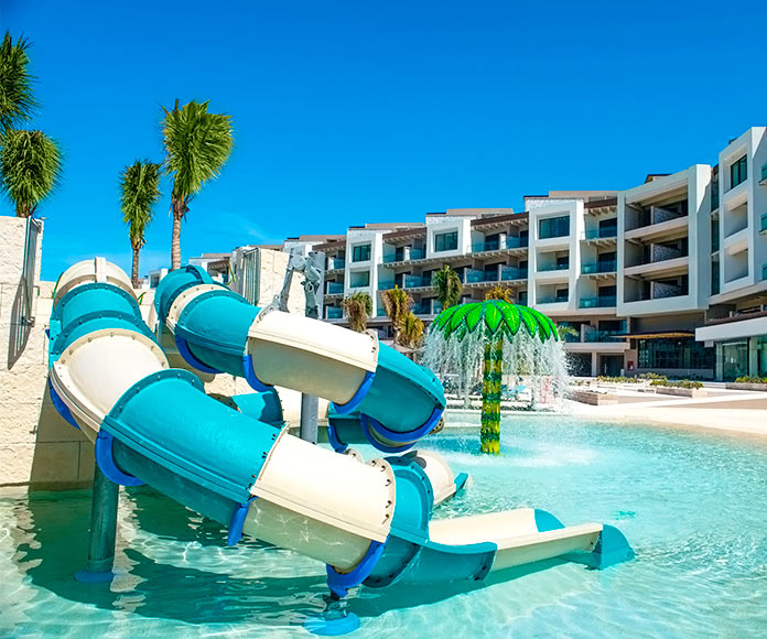
[[[208,113],[208,102],[191,101],[183,107],[163,108],[162,137],[165,144],[165,171],[173,176],[171,214],[173,240],[171,268],[181,267],[181,220],[190,210],[190,201],[206,182],[218,177],[231,154],[231,118]]]

